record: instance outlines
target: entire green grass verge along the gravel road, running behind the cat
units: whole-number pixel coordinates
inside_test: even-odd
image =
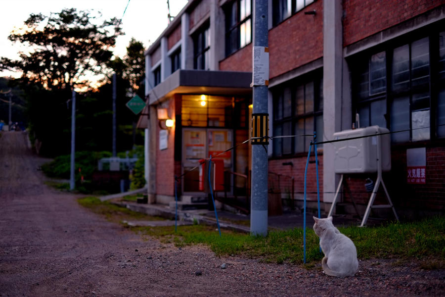
[[[102,213],[107,217],[131,216],[146,219],[146,215],[135,213],[97,198],[82,198],[79,203]],[[134,218],[133,218],[134,219]],[[128,220],[128,219],[127,219]],[[154,237],[163,243],[177,247],[204,244],[216,255],[236,254],[257,258],[264,262],[303,263],[303,229],[270,231],[267,237],[252,237],[244,233],[222,230],[222,237],[214,226],[191,225],[166,227],[132,227],[143,237]],[[424,269],[444,267],[445,263],[445,217],[436,216],[418,222],[390,223],[377,227],[360,228],[356,226],[339,228],[350,237],[357,248],[359,259],[396,258],[400,263],[406,260],[422,260]],[[306,266],[319,262],[319,239],[312,229],[306,232]],[[309,265],[309,266],[308,266]],[[371,265],[379,265],[378,261]]]

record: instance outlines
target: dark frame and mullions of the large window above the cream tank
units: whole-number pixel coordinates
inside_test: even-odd
[[[435,25],[435,27],[434,27]],[[439,39],[440,34],[445,32],[443,29],[439,29],[440,26],[437,24],[433,24],[433,26],[429,28],[425,28],[424,30],[418,30],[416,32],[411,32],[408,36],[402,36],[397,38],[391,42],[388,42],[384,45],[379,45],[371,50],[366,50],[360,53],[358,56],[350,58],[348,62],[350,65],[356,65],[351,67],[351,75],[352,75],[352,118],[355,119],[355,114],[358,113],[359,109],[362,107],[368,106],[369,110],[369,125],[371,125],[371,102],[384,99],[386,100],[386,127],[391,130],[392,127],[392,115],[394,110],[392,109],[392,105],[395,100],[408,97],[409,98],[409,140],[395,142],[392,139],[392,146],[400,146],[400,145],[410,145],[410,144],[422,144],[422,143],[434,143],[434,142],[443,142],[445,136],[439,136],[437,131],[437,115],[438,115],[438,96],[439,93],[445,90],[445,77],[440,77],[439,73]],[[434,29],[433,29],[434,28]],[[443,28],[443,27],[442,27]],[[422,40],[424,38],[428,38],[428,54],[429,54],[429,79],[427,82],[424,82],[419,85],[414,85],[412,83],[413,79],[413,65],[412,65],[412,44],[416,41]],[[409,86],[403,88],[401,90],[393,90],[393,59],[394,59],[394,50],[400,48],[402,46],[408,45],[409,48]],[[360,99],[358,95],[358,64],[363,59],[368,59],[368,62],[373,54],[379,53],[381,51],[386,52],[386,91],[369,95],[366,99]],[[370,67],[368,68],[368,76],[370,77]],[[370,79],[368,79],[368,83],[370,83]],[[368,90],[370,92],[370,90]],[[417,94],[428,93],[429,95],[429,107],[428,108],[415,108],[413,107],[413,96]],[[429,110],[430,122],[429,122],[429,139],[420,139],[413,140],[413,122],[412,122],[412,113],[415,111]],[[365,127],[365,126],[360,126]]]

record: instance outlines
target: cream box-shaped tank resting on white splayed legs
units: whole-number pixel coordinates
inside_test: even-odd
[[[371,126],[334,133],[334,139],[347,139],[381,133],[389,133],[386,128]],[[335,151],[335,173],[376,173],[377,172],[377,137],[370,136],[333,143]],[[382,171],[391,170],[391,137],[380,136]]]

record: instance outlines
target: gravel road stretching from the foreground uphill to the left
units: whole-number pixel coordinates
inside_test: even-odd
[[[414,262],[359,261],[355,277],[339,279],[143,241],[47,187],[37,170],[45,161],[26,134],[2,132],[0,296],[445,296],[445,271]]]

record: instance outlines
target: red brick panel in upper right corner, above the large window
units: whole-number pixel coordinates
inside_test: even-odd
[[[343,0],[343,46],[443,4],[445,0]]]

